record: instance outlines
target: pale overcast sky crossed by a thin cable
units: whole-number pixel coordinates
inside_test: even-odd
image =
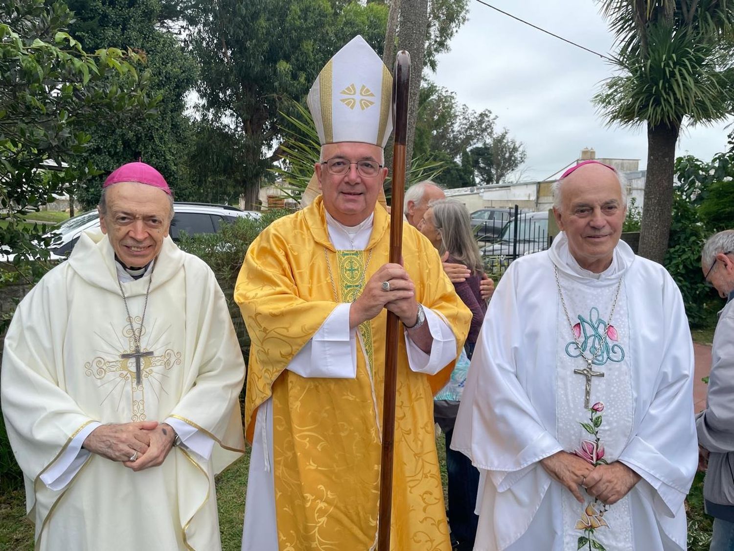
[[[608,54],[612,37],[590,0],[490,0],[490,4],[586,48]],[[597,157],[647,164],[644,128],[607,127],[591,98],[612,73],[602,58],[545,35],[476,0],[468,21],[438,59],[429,78],[477,111],[490,109],[498,126],[526,146],[522,179],[544,179],[573,162],[581,149]],[[732,120],[693,127],[678,140],[677,155],[704,160],[724,151]]]

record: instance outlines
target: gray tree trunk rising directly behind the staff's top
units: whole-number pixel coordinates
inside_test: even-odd
[[[408,129],[405,143],[406,173],[410,173],[410,159],[413,156],[415,121],[418,120],[418,96],[421,92],[427,35],[428,0],[401,0],[398,47],[401,50],[407,50],[410,54],[410,96],[408,97]]]

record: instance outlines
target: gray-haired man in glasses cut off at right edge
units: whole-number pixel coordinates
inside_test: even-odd
[[[734,230],[709,237],[701,251],[701,269],[726,306],[713,334],[706,408],[696,417],[705,509],[713,516],[711,551],[734,550]]]

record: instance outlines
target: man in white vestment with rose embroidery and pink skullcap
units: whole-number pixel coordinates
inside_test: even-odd
[[[664,267],[619,240],[623,176],[553,186],[562,232],[492,298],[451,447],[479,468],[475,551],[686,549],[693,350]]]

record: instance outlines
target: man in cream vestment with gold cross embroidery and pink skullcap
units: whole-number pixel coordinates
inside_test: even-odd
[[[131,162],[100,229],[32,289],[0,392],[36,550],[221,548],[214,475],[244,450],[244,361],[214,273],[169,237],[170,187]]]

